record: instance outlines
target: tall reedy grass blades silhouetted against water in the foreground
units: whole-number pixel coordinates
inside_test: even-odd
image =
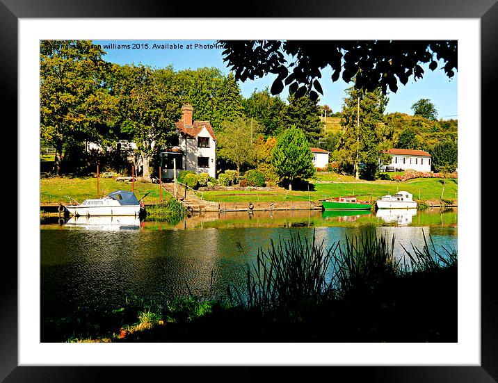
[[[428,247],[425,236],[421,250],[412,246],[397,259],[394,241],[394,236],[360,234],[326,248],[314,234],[311,242],[299,234],[283,243],[280,238],[266,252],[259,248],[248,265],[245,291],[229,286],[227,295],[236,307],[292,317],[324,302],[364,302],[414,272],[456,267],[456,250],[442,255]]]

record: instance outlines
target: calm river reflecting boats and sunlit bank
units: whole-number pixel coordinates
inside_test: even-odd
[[[41,320],[75,311],[106,311],[137,296],[145,300],[192,293],[216,297],[243,283],[258,249],[291,235],[337,241],[375,233],[421,248],[457,248],[458,212],[378,211],[348,215],[321,211],[204,213],[177,225],[134,218],[78,218],[40,224]],[[212,272],[212,281],[211,281]]]

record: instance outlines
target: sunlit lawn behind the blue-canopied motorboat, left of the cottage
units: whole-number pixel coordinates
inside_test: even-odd
[[[114,190],[130,190],[131,182],[115,181],[113,178],[99,178],[99,193],[108,194]],[[134,193],[138,199],[145,197],[146,204],[159,202],[159,185],[145,182],[135,182]],[[83,202],[88,198],[97,198],[97,179],[93,177],[51,177],[40,179],[40,202],[42,204],[67,203],[66,196]],[[170,195],[163,190],[162,199]]]

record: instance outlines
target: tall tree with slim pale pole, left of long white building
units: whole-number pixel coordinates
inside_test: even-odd
[[[353,166],[356,179],[360,179],[360,163],[364,177],[373,179],[378,170],[378,161],[387,161],[389,140],[393,130],[384,124],[387,97],[380,89],[374,92],[348,89],[344,99],[341,125],[344,135],[338,144],[338,157],[342,167]]]

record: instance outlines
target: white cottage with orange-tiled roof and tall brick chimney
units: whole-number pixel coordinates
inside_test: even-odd
[[[182,119],[175,124],[178,141],[161,151],[162,178],[173,178],[173,160],[177,174],[193,170],[216,177],[216,135],[209,121],[192,121],[192,111],[191,105],[182,106]]]

